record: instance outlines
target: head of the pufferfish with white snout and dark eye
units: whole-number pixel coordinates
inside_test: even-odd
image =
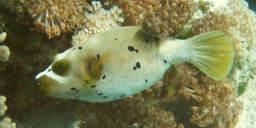
[[[67,99],[77,99],[80,89],[84,86],[83,76],[85,70],[83,63],[79,63],[73,58],[75,55],[61,53],[53,57],[53,63],[37,74],[39,90],[44,95],[51,97],[61,97]]]

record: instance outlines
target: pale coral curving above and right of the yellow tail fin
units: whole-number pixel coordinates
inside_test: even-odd
[[[236,58],[229,78],[236,86],[246,86],[249,79],[256,75],[256,61],[252,54],[256,44],[256,28],[252,27],[256,24],[255,17],[255,12],[248,9],[245,1],[235,0],[192,22],[192,33],[195,35],[214,30],[230,35],[236,48]]]

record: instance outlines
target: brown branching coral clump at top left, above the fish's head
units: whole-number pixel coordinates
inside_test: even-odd
[[[37,30],[48,34],[49,38],[71,31],[85,23],[83,10],[89,7],[86,1],[75,0],[30,0],[24,6],[34,18]]]

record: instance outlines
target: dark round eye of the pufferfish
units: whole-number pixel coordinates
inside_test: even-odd
[[[69,71],[70,62],[69,60],[58,60],[52,65],[52,70],[54,73],[57,73],[59,76],[67,75]]]

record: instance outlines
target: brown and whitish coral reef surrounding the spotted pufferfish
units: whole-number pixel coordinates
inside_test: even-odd
[[[209,0],[102,0],[101,4],[89,0],[0,0],[0,12],[4,9],[12,12],[12,15],[4,12],[4,17],[0,13],[0,23],[7,22],[5,28],[0,25],[0,31],[8,33],[8,41],[4,43],[12,49],[12,57],[0,72],[0,91],[8,97],[7,105],[11,110],[7,115],[20,125],[30,122],[25,127],[34,127],[37,126],[35,120],[48,121],[50,116],[54,123],[60,120],[60,117],[53,118],[59,116],[58,113],[63,112],[61,116],[64,116],[64,111],[69,111],[69,116],[78,107],[79,121],[74,127],[235,127],[243,109],[242,100],[237,100],[238,89],[246,92],[247,87],[255,88],[249,87],[248,82],[256,74],[256,58],[253,57],[256,20],[255,13],[243,0],[226,0],[221,4]],[[26,22],[33,22],[35,27],[31,28]],[[51,56],[70,47],[70,42],[78,44],[87,36],[116,28],[121,23],[140,25],[142,22],[160,33],[184,39],[206,31],[225,31],[236,48],[236,60],[229,77],[225,81],[213,81],[192,65],[179,63],[153,87],[110,103],[53,100],[39,95],[35,87],[37,82],[31,79],[50,63]],[[42,33],[31,29],[44,32],[52,39],[45,39]],[[66,34],[68,31],[75,35]],[[242,92],[238,92],[242,97]],[[3,103],[0,108],[5,111]],[[178,103],[183,104],[177,107]],[[41,105],[45,107],[40,108]],[[67,108],[61,109],[60,105]],[[45,114],[56,109],[60,112]],[[34,114],[36,110],[41,113]],[[187,118],[181,119],[181,115]],[[26,119],[34,120],[25,122]],[[10,123],[6,118],[0,127]],[[47,124],[43,122],[37,127]],[[55,126],[58,125],[61,123]]]

